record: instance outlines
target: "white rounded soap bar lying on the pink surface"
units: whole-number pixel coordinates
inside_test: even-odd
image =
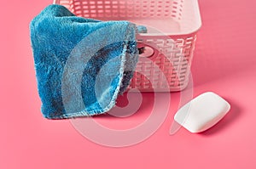
[[[214,126],[230,110],[230,104],[216,93],[207,92],[185,104],[174,116],[189,132],[203,132]]]

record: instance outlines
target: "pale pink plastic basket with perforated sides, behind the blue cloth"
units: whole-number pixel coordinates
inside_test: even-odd
[[[55,0],[73,14],[96,20],[129,20],[145,25],[137,35],[143,48],[129,88],[141,92],[181,91],[188,85],[196,32],[201,27],[197,0]],[[148,61],[149,60],[149,61]],[[155,70],[157,65],[159,69]]]

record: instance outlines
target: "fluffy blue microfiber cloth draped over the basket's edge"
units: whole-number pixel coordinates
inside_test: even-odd
[[[44,117],[99,115],[113,108],[137,64],[136,25],[84,19],[49,5],[30,31]]]

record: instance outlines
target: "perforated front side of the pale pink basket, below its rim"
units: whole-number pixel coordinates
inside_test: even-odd
[[[174,39],[174,41],[172,40]],[[189,69],[193,59],[196,35],[172,37],[145,37],[144,43],[152,43],[157,46],[156,56],[150,62],[139,62],[137,72],[131,80],[130,88],[138,88],[142,92],[155,91],[180,91],[189,81]],[[160,71],[152,69],[154,65],[160,67]],[[143,74],[138,73],[143,72]],[[151,78],[149,82],[148,77]],[[169,87],[163,79],[166,78]]]

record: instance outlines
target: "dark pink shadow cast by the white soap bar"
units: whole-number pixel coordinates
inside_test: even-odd
[[[228,114],[225,115],[221,121],[218,121],[217,124],[209,128],[207,131],[200,132],[199,134],[201,136],[210,137],[214,134],[217,134],[218,132],[221,132],[225,128],[231,126],[231,124],[234,123],[239,118],[239,116],[241,115],[241,108],[239,107],[238,104],[234,103],[232,100],[229,100],[229,102],[230,102],[230,112],[228,112]]]

